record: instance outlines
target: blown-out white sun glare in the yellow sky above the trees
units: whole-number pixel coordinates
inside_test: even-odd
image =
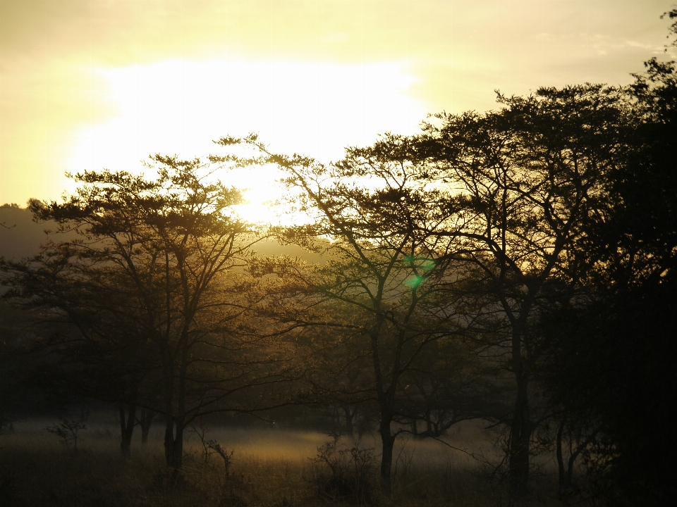
[[[219,154],[212,144],[250,132],[270,149],[335,160],[377,134],[411,133],[425,118],[405,63],[340,65],[284,61],[165,61],[99,69],[116,115],[78,132],[73,170],[140,171],[149,154]],[[269,170],[221,174],[248,189],[245,218],[273,220],[265,201],[279,197]]]

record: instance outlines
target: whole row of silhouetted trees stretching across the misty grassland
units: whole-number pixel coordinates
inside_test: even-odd
[[[62,396],[116,404],[125,456],[159,414],[173,470],[195,420],[299,403],[341,408],[348,431],[372,418],[386,492],[398,434],[483,419],[504,428],[513,499],[548,449],[562,498],[666,503],[677,74],[654,59],[635,77],[499,95],[329,165],[250,136],[153,156],[154,179],[78,173],[64,201],[30,201],[58,227],[39,255],[0,263],[46,330],[22,346]],[[246,223],[213,179],[269,164],[297,225]],[[256,256],[269,238],[319,261]]]

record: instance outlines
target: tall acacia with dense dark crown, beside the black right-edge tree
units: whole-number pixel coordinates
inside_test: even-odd
[[[574,284],[585,273],[585,228],[607,213],[606,177],[623,163],[625,105],[618,89],[590,84],[498,100],[499,111],[438,115],[441,124],[425,125],[417,142],[456,206],[443,234],[463,244],[482,308],[504,321],[497,344],[516,381],[508,473],[521,496],[534,429],[533,319],[551,282]]]

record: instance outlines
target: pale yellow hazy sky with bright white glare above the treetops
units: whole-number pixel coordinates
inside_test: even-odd
[[[223,154],[257,132],[328,162],[495,92],[628,84],[666,55],[658,0],[0,0],[0,204],[64,173]],[[275,197],[269,173],[223,175]],[[253,213],[253,211],[252,211]]]

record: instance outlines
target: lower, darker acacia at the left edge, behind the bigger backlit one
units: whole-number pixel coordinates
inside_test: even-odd
[[[51,370],[65,382],[61,387],[119,407],[121,451],[129,458],[136,401],[153,365],[116,270],[67,242],[47,242],[21,261],[2,259],[0,270],[11,287],[4,298],[57,326],[34,348],[58,358]]]

